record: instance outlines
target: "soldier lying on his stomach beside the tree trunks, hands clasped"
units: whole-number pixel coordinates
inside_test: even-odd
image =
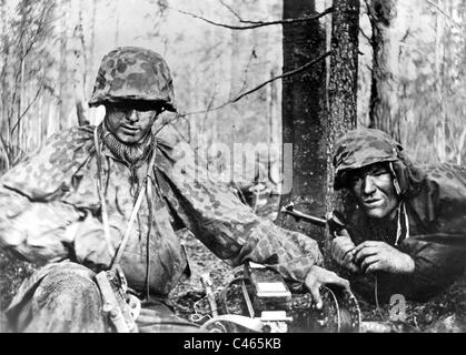
[[[426,301],[466,264],[466,170],[418,166],[388,134],[357,129],[336,144],[335,189],[351,192],[334,260],[371,301]],[[377,296],[377,297],[376,297]]]

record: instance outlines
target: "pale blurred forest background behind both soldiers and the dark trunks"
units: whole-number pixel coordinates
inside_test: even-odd
[[[100,122],[103,109],[87,102],[102,55],[140,45],[161,53],[173,77],[179,113],[167,113],[161,133],[231,169],[245,191],[279,191],[282,81],[271,79],[285,73],[280,21],[294,2],[304,1],[0,0],[0,173],[51,134]],[[317,12],[333,6],[308,2]],[[331,16],[318,21],[329,49]],[[417,160],[464,164],[466,2],[361,0],[358,40],[357,124],[393,134]],[[236,169],[219,149],[236,143],[256,162]],[[277,203],[256,199],[255,207],[275,220]],[[0,264],[3,308],[30,265],[3,255]]]

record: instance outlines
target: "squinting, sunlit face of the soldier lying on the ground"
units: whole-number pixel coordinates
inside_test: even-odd
[[[391,174],[381,163],[348,173],[349,187],[360,209],[371,219],[393,219],[399,197]]]

